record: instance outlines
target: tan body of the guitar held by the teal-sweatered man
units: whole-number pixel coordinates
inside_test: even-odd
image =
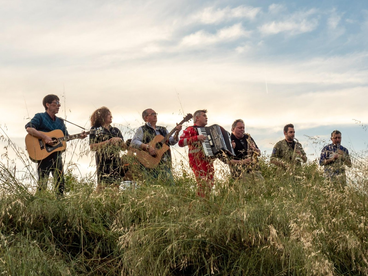
[[[53,140],[64,137],[64,133],[60,129],[56,129],[50,132],[40,132],[51,137]],[[25,147],[28,151],[29,158],[33,162],[36,162],[38,160],[46,158],[56,151],[64,151],[67,145],[66,141],[60,141],[51,146],[49,144],[46,144],[45,140],[32,136],[31,134],[27,134],[27,136],[25,137]]]

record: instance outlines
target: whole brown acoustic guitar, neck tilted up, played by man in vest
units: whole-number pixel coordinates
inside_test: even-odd
[[[188,113],[187,116],[185,116],[184,119],[180,123],[178,123],[178,125],[189,122],[192,118],[193,115]],[[156,150],[155,156],[151,156],[148,151],[137,150],[133,149],[132,147],[129,148],[128,155],[132,155],[135,153],[139,162],[141,162],[142,165],[150,169],[155,168],[160,163],[163,154],[167,150],[169,150],[169,145],[167,144],[167,141],[175,131],[176,129],[174,128],[165,137],[163,137],[162,135],[156,135],[152,139],[152,141],[148,143],[150,147],[153,147]]]

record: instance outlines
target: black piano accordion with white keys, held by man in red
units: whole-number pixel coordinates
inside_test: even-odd
[[[221,155],[235,156],[234,149],[231,146],[230,133],[222,126],[212,125],[197,127],[198,134],[206,136],[202,146],[206,156],[220,157]]]

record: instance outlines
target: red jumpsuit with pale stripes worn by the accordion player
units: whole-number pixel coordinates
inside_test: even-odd
[[[194,126],[196,126],[194,124]],[[190,126],[184,130],[178,142],[179,147],[189,147],[189,165],[198,183],[197,195],[202,198],[209,193],[213,186],[213,160],[205,156],[201,141],[198,141],[197,128]]]

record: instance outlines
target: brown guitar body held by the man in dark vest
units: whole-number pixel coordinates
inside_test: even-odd
[[[163,154],[169,150],[167,144],[161,146],[160,142],[164,139],[162,135],[156,135],[151,142],[148,143],[150,147],[156,150],[156,155],[151,156],[147,151],[137,150],[137,158],[146,168],[155,168],[161,161]]]

